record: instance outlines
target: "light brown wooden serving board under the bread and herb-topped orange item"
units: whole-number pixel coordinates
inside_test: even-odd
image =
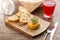
[[[40,27],[37,30],[30,30],[27,25],[21,26],[19,22],[9,22],[8,20],[6,20],[5,22],[10,27],[17,29],[18,31],[22,32],[23,34],[31,36],[31,37],[39,35],[43,31],[45,31],[50,25],[50,22],[42,20],[41,18],[39,18]]]

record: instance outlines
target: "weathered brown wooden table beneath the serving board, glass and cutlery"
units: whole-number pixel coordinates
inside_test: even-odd
[[[18,2],[16,0],[14,1],[15,1],[15,4],[18,6],[19,5]],[[59,15],[60,14],[60,0],[55,0],[55,1],[56,1],[56,9],[54,11],[54,17],[53,17],[52,22],[58,21],[60,23],[60,15]],[[35,10],[33,14],[43,18],[42,10],[40,8],[38,8],[37,10]],[[14,29],[7,27],[4,22],[6,17],[8,16],[4,15],[4,13],[0,13],[0,40],[43,40],[46,34],[46,31],[35,38],[26,37],[23,34],[21,34],[21,32],[18,32]],[[60,27],[59,26],[60,25],[58,25],[57,27],[53,40],[60,40]],[[49,40],[49,37],[50,36],[48,35],[47,40]]]

